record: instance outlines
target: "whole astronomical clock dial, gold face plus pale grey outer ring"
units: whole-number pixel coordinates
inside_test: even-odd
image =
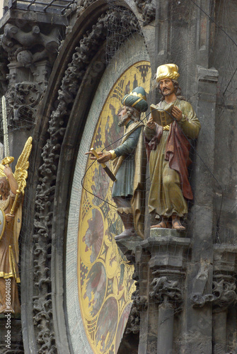
[[[117,72],[115,61],[108,72],[93,98],[81,139],[67,235],[67,267],[76,265],[76,272],[67,273],[71,336],[75,341],[76,336],[83,338],[79,343],[83,353],[98,354],[115,354],[120,346],[135,291],[134,267],[115,243],[122,221],[111,198],[112,181],[100,164],[84,153],[91,147],[108,151],[120,144],[124,127],[118,127],[118,113],[123,96],[137,86],[149,94],[151,85],[147,60],[134,62],[122,72]],[[143,113],[141,119],[144,117]],[[108,166],[112,170],[112,165]]]

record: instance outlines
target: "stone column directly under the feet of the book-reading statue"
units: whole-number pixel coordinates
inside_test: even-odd
[[[139,353],[173,353],[173,322],[183,302],[183,281],[190,239],[172,229],[151,229],[141,242],[142,253],[149,254],[147,272],[141,282],[150,279],[147,311],[140,318]],[[149,277],[147,276],[149,274]],[[146,326],[144,326],[146,324]],[[142,344],[141,344],[142,343]],[[146,351],[144,349],[146,348]]]

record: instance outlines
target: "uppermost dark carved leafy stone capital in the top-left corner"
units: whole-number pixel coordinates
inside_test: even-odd
[[[44,34],[37,24],[31,25],[30,31],[7,23],[1,45],[8,53],[8,60],[16,60],[18,67],[33,68],[33,64],[43,59],[54,62],[59,46],[58,28]]]

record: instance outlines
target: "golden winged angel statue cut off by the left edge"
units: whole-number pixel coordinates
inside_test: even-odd
[[[0,316],[20,314],[17,283],[21,215],[25,179],[28,176],[28,158],[32,148],[29,137],[16,164],[15,173],[9,163],[13,157],[5,157],[0,164]]]

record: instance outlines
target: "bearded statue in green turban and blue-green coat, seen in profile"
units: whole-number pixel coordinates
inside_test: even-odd
[[[147,110],[146,93],[142,87],[137,87],[122,99],[124,105],[119,113],[119,126],[126,127],[122,144],[110,152],[98,153],[99,163],[113,160],[114,174],[117,178],[112,188],[112,198],[117,205],[117,212],[124,224],[125,230],[115,239],[127,236],[143,236],[143,217],[141,213],[141,189],[144,177],[145,161],[139,161],[142,156],[142,135],[144,126],[140,122],[140,113]]]

